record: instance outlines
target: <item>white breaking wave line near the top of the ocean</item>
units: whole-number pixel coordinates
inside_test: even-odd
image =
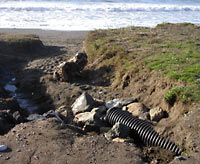
[[[130,4],[130,3],[97,3],[97,4],[74,4],[74,3],[25,3],[1,5],[0,11],[100,11],[100,12],[178,12],[200,11],[199,6],[189,5],[156,5],[156,4]]]

